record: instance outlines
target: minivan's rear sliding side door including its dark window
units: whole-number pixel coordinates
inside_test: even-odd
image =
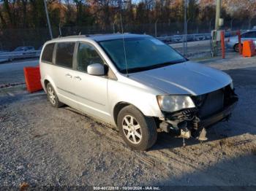
[[[60,101],[70,106],[75,106],[75,95],[72,92],[74,85],[74,60],[75,42],[57,42],[55,48],[55,58],[53,63],[56,65],[53,71],[53,81],[56,84]]]

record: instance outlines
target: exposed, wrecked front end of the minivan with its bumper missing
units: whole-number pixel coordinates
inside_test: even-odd
[[[199,141],[206,141],[206,128],[215,123],[228,120],[238,102],[238,96],[226,86],[212,93],[192,97],[196,108],[179,112],[165,113],[165,121],[159,128],[177,136],[189,139],[191,136]]]

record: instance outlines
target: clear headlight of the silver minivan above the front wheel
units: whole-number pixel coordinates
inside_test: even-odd
[[[160,109],[165,112],[195,107],[194,102],[187,95],[157,95],[157,101]]]

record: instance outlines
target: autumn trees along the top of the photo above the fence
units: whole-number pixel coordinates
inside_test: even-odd
[[[215,0],[187,0],[190,22],[215,17]],[[141,25],[184,21],[184,0],[47,0],[53,27]],[[121,16],[120,16],[121,15]],[[223,0],[225,20],[248,20],[256,16],[256,0]],[[43,0],[0,0],[0,28],[45,28]]]

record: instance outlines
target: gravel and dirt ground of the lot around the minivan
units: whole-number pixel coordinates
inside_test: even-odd
[[[233,77],[240,100],[230,121],[186,147],[159,133],[148,152],[129,149],[113,127],[52,108],[43,92],[0,88],[0,185],[256,186],[256,58],[202,63]]]

